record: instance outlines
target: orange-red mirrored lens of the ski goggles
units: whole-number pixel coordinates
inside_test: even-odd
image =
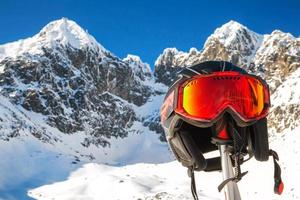
[[[244,119],[259,117],[269,104],[266,86],[250,75],[234,72],[199,76],[184,84],[178,111],[193,118],[212,120],[230,107]],[[181,109],[180,109],[181,108]]]

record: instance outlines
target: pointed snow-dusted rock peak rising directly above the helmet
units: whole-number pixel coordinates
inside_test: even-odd
[[[229,21],[208,37],[201,60],[226,60],[247,69],[262,41],[263,35]]]

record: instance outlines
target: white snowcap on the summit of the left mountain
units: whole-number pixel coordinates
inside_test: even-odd
[[[84,31],[76,22],[62,18],[46,25],[31,38],[0,45],[0,60],[5,57],[17,57],[24,54],[42,54],[42,48],[56,48],[70,45],[75,49],[90,48],[94,51],[106,51],[96,39]]]

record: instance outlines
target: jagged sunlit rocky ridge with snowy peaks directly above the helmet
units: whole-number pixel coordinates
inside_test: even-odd
[[[156,81],[169,85],[181,67],[207,60],[226,60],[264,77],[274,92],[285,77],[300,66],[299,38],[279,30],[258,34],[235,21],[217,28],[206,40],[203,50],[196,52],[192,56],[166,48],[155,62]]]

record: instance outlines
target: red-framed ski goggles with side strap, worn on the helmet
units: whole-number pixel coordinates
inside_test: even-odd
[[[187,120],[212,122],[225,111],[247,123],[265,117],[269,88],[260,77],[235,71],[197,75],[177,84],[161,107],[164,122],[173,111]]]

